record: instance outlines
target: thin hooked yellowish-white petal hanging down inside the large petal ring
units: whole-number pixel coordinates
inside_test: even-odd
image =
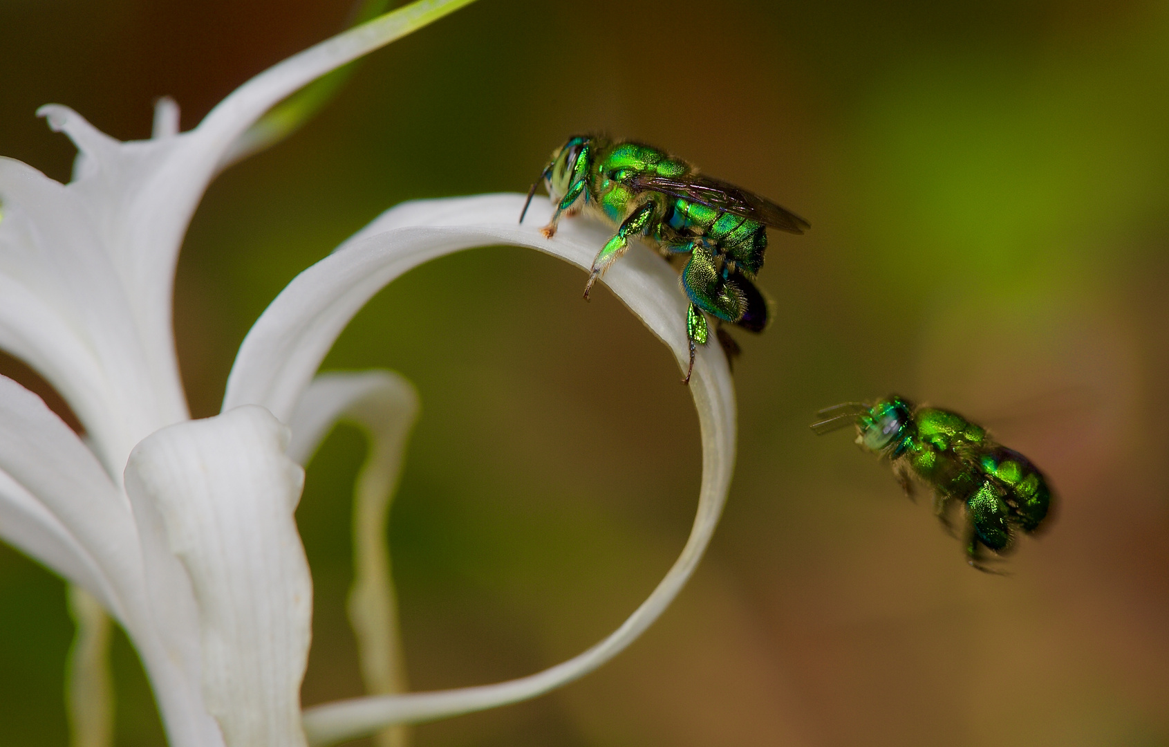
[[[369,440],[369,452],[353,489],[353,586],[348,600],[361,678],[369,694],[407,690],[386,524],[417,414],[419,395],[399,374],[330,372],[313,379],[289,423],[289,456],[302,464],[338,420],[360,426]],[[393,727],[379,734],[378,743],[390,747],[404,745],[404,740],[402,727]]]

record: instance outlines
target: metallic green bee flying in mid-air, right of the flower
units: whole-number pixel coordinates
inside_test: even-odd
[[[913,494],[911,478],[929,485],[934,511],[952,533],[949,516],[961,504],[967,560],[980,570],[990,570],[984,551],[1005,553],[1017,530],[1031,534],[1047,516],[1052,494],[1043,472],[961,415],[914,407],[897,395],[872,406],[845,402],[816,415],[822,420],[811,428],[821,435],[855,424],[857,443],[892,462],[907,494]]]

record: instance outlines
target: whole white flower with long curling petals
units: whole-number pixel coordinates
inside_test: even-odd
[[[78,148],[68,185],[0,159],[0,347],[51,382],[87,433],[79,438],[36,395],[0,378],[0,537],[85,589],[125,628],[175,747],[326,743],[546,692],[652,623],[714,530],[734,463],[735,410],[726,360],[710,346],[690,385],[704,452],[694,528],[650,597],[608,638],[537,675],[394,694],[401,678],[382,526],[416,403],[388,372],[317,369],[374,293],[437,256],[517,244],[587,270],[603,230],[570,221],[545,240],[537,227],[551,208],[533,206],[532,220],[518,226],[518,194],[410,202],[378,217],[260,317],[231,369],[223,413],[189,420],[172,282],[207,184],[271,140],[254,125],[283,98],[468,1],[422,0],[312,47],[238,88],[185,133],[170,102],[158,106],[154,137],[132,143],[44,106],[50,126]],[[638,247],[606,283],[684,365],[685,299],[669,265]],[[373,530],[359,552],[352,611],[367,689],[390,694],[302,714],[312,585],[293,511],[300,464],[339,417],[358,420],[375,442],[358,484],[357,520]],[[101,620],[83,602],[74,607],[81,621]],[[87,698],[97,696],[85,693],[101,690],[99,676],[87,680],[101,644],[95,653],[88,639],[79,636],[74,659],[82,721],[98,718],[87,715]]]

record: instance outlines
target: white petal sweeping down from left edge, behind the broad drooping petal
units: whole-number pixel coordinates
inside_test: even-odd
[[[198,690],[198,635],[179,624],[158,625],[181,608],[181,589],[147,589],[148,537],[139,534],[125,496],[39,396],[2,376],[0,471],[4,538],[83,586],[122,622],[155,686],[174,747],[217,743]]]

